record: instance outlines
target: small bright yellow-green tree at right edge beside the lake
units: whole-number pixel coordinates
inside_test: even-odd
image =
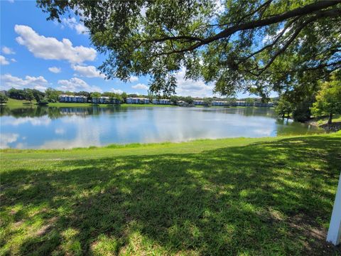
[[[331,124],[333,114],[341,114],[341,80],[336,75],[321,85],[312,112],[317,117],[329,115],[328,124]]]

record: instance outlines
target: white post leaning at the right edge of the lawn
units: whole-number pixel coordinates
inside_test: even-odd
[[[327,241],[333,245],[340,243],[341,237],[341,174],[339,185],[337,186],[334,208],[332,209],[332,218],[330,220]]]

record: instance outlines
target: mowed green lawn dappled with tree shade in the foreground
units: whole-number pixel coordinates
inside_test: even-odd
[[[341,133],[1,151],[1,255],[340,255]]]

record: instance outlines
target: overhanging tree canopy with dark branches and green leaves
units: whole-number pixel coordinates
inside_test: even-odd
[[[37,0],[50,19],[80,15],[107,54],[107,78],[150,75],[150,91],[175,92],[175,73],[215,92],[301,91],[341,66],[341,1]],[[309,80],[310,82],[306,82]]]

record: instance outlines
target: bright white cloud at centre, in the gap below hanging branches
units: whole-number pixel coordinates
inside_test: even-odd
[[[186,69],[182,68],[176,75],[177,87],[175,92],[181,96],[212,97],[214,85],[206,85],[202,80],[185,80]]]

